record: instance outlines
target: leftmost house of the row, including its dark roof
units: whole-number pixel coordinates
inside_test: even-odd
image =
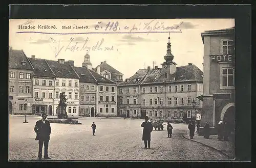
[[[23,50],[9,48],[9,114],[32,114],[33,67]],[[26,101],[27,100],[27,104]]]

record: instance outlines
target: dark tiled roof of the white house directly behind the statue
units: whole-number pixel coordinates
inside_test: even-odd
[[[46,60],[46,61],[51,67],[56,77],[75,78],[75,79],[79,78],[68,62],[64,62],[63,64],[60,64],[57,61],[52,61],[52,60]]]

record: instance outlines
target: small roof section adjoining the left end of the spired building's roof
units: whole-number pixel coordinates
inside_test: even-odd
[[[122,85],[138,85],[147,74],[147,69],[139,69],[133,76],[119,83],[118,86]]]

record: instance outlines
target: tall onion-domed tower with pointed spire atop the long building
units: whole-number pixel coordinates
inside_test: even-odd
[[[168,37],[168,43],[167,43],[167,50],[166,50],[166,55],[164,56],[165,62],[162,63],[162,69],[169,73],[170,75],[174,74],[176,72],[176,63],[173,62],[174,55],[172,54],[172,49],[170,45],[170,33]]]

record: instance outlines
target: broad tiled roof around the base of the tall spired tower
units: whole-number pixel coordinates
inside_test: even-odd
[[[199,81],[203,82],[203,72],[195,65],[186,65],[177,67],[177,71],[164,79],[164,72],[162,68],[151,69],[140,84],[146,83],[162,83],[175,81]]]

